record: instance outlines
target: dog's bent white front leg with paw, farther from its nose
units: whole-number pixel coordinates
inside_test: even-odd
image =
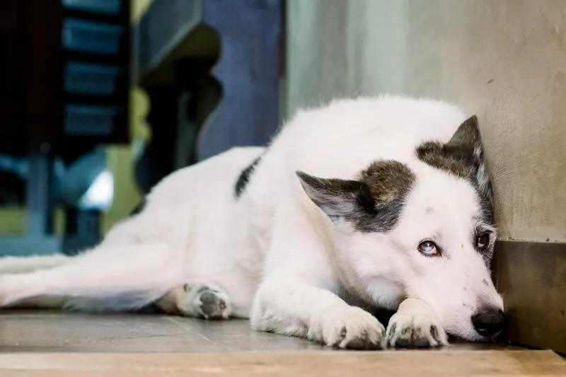
[[[251,324],[256,330],[306,337],[338,348],[379,349],[385,328],[373,315],[338,297],[330,245],[318,233],[319,219],[300,203],[279,207],[267,277],[255,296]]]

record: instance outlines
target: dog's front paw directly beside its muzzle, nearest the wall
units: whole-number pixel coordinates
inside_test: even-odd
[[[446,332],[432,313],[397,312],[389,320],[388,347],[428,348],[446,344]]]

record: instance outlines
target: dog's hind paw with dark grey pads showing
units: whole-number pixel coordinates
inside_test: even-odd
[[[214,284],[184,284],[156,301],[162,311],[173,315],[204,319],[228,319],[230,298]]]

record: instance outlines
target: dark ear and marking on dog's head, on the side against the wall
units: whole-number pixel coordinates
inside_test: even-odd
[[[469,117],[446,143],[427,141],[417,147],[420,161],[468,180],[480,197],[483,221],[493,224],[494,197],[492,183],[485,170],[483,142],[478,117]]]

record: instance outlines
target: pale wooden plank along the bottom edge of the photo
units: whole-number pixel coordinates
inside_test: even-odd
[[[565,376],[550,351],[1,354],[0,376]]]

